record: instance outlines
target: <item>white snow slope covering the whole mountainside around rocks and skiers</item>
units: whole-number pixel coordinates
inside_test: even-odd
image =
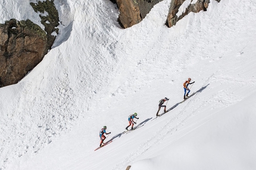
[[[32,1],[0,2],[1,23],[40,24]],[[211,1],[171,28],[164,0],[125,30],[110,1],[54,3],[54,48],[0,88],[1,170],[256,169],[254,0]],[[195,95],[179,103],[189,77]],[[156,118],[164,97],[170,111]],[[103,126],[113,142],[94,151]]]

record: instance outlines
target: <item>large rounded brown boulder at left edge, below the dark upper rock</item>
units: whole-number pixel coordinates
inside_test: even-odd
[[[47,53],[45,31],[32,21],[0,24],[0,86],[17,83]]]

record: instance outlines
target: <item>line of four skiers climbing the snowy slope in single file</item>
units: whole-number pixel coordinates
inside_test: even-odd
[[[195,81],[194,81],[195,82]],[[188,81],[185,81],[183,83],[183,88],[184,88],[184,97],[183,99],[185,100],[186,97],[189,97],[189,92],[190,92],[190,89],[188,88],[189,85],[193,84],[194,82],[191,83],[191,78],[188,78]],[[186,93],[188,91],[188,93]],[[162,100],[159,101],[159,104],[158,104],[158,111],[157,111],[157,116],[159,111],[161,110],[161,107],[164,107],[164,113],[166,113],[166,105],[163,105],[164,102],[168,102],[168,98],[165,97],[163,98]],[[132,125],[132,128],[130,130],[133,130],[133,125],[136,124],[136,121],[133,121],[134,118],[136,119],[139,119],[139,117],[136,117],[138,116],[137,113],[134,113],[134,114],[131,114],[129,117],[128,117],[128,121],[129,121],[129,125],[125,128],[126,130],[128,130],[128,127],[130,127]],[[104,146],[104,140],[106,139],[106,137],[104,136],[104,134],[110,134],[111,132],[107,133],[106,132],[106,129],[107,129],[107,126],[104,126],[100,131],[99,131],[99,138],[101,139],[101,142],[99,143],[99,147],[102,147]]]

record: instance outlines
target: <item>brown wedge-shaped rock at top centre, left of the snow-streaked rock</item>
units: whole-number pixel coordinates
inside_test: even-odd
[[[121,27],[128,28],[138,24],[146,14],[160,1],[163,0],[110,0],[117,4],[120,14],[118,22]]]

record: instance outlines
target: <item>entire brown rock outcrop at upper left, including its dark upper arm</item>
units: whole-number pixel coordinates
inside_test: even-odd
[[[58,34],[54,1],[30,3],[40,13],[43,31],[30,20],[12,19],[0,24],[0,87],[16,84],[41,62]]]

